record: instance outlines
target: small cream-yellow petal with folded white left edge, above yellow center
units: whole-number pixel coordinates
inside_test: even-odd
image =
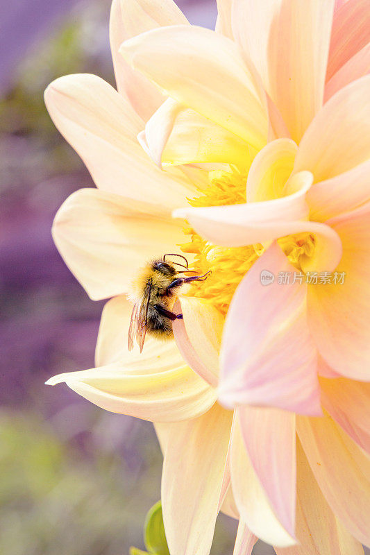
[[[246,142],[172,99],[146,123],[144,137],[149,155],[159,167],[204,162],[239,167],[250,164]]]

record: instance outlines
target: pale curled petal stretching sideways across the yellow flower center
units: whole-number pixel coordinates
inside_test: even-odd
[[[338,234],[328,225],[304,221],[308,215],[305,193],[312,183],[310,172],[301,171],[289,179],[297,192],[260,203],[186,207],[173,212],[186,219],[197,233],[213,244],[238,247],[267,243],[279,237],[310,232],[315,237],[312,257],[303,259],[304,271],[332,271],[342,257]]]

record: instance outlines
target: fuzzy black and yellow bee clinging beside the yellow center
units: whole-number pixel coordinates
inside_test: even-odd
[[[167,260],[169,256],[180,257],[185,264],[171,262]],[[178,270],[176,266],[185,269]],[[172,311],[176,292],[185,283],[205,280],[210,273],[187,278],[180,276],[181,273],[190,272],[195,273],[189,269],[187,259],[183,255],[173,254],[152,260],[142,269],[137,278],[137,297],[128,328],[128,350],[133,350],[136,339],[142,352],[146,332],[158,339],[169,339],[172,336],[172,322],[183,318],[182,314]]]

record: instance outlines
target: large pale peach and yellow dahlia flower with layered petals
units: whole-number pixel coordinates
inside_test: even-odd
[[[53,237],[108,300],[96,368],[53,377],[152,420],[171,555],[207,555],[219,510],[235,555],[370,545],[370,12],[362,0],[220,0],[216,31],[171,0],[114,0],[118,92],[48,87],[97,189]],[[123,44],[122,44],[123,43]],[[176,341],[129,353],[131,280],[188,253]]]

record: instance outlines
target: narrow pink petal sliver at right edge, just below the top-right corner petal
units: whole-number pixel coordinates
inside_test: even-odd
[[[346,87],[352,81],[370,72],[370,44],[348,60],[333,77],[326,83],[324,102],[327,102],[336,92]]]

